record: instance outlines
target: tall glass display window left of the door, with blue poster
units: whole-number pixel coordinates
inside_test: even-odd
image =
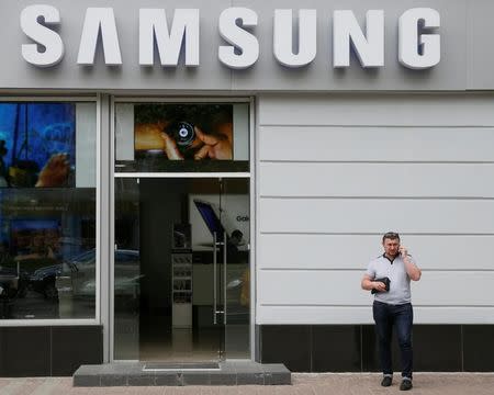
[[[94,102],[0,102],[0,320],[96,317]]]

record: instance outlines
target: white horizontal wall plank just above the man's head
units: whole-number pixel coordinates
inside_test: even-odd
[[[494,234],[494,201],[261,199],[261,233]]]

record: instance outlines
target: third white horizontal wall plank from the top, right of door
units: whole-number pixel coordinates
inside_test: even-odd
[[[485,180],[494,180],[494,165],[260,163],[259,194],[261,198],[494,198],[494,182]]]

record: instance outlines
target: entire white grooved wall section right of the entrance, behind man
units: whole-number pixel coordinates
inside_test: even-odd
[[[257,324],[370,324],[381,235],[424,270],[415,321],[494,323],[494,97],[258,98]]]

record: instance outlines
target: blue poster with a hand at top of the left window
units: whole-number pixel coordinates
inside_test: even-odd
[[[0,103],[0,187],[75,187],[76,106]]]

